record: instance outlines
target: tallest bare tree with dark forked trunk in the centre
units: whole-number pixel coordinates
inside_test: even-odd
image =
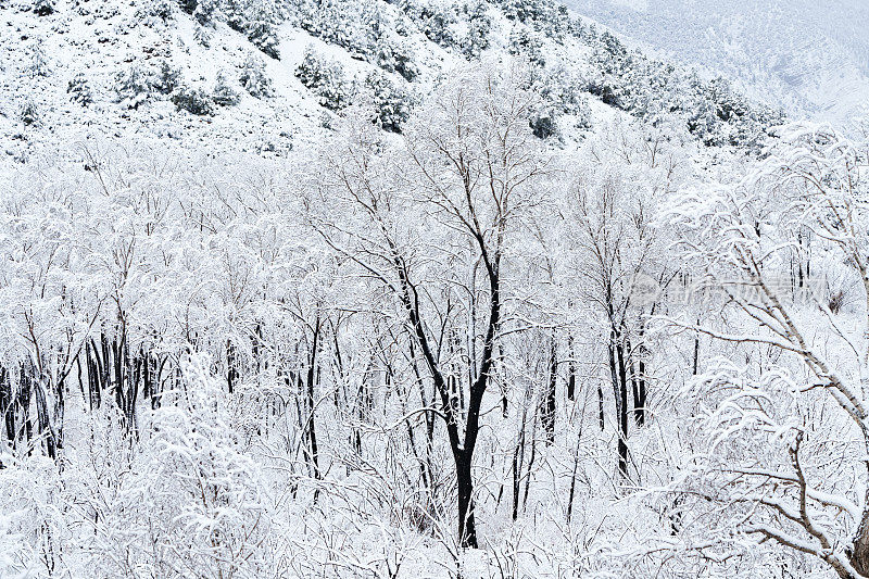
[[[401,163],[375,159],[381,144],[370,130],[350,129],[319,201],[331,196],[328,212],[337,200],[352,223],[312,207],[325,241],[404,312],[440,399],[427,412],[445,425],[463,546],[478,545],[471,467],[504,319],[505,256],[519,216],[542,193],[534,189],[543,163],[528,125],[532,103],[516,78],[463,74],[407,128]]]

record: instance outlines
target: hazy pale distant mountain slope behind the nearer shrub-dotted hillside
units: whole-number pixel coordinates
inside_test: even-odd
[[[568,0],[668,59],[721,74],[796,117],[845,126],[869,99],[869,4],[861,0]]]

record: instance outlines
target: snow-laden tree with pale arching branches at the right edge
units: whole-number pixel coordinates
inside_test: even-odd
[[[869,487],[867,166],[866,151],[837,135],[789,127],[742,182],[687,194],[673,213],[725,323],[670,322],[738,349],[696,381],[709,407],[700,429],[706,446],[697,476],[679,488],[731,505],[742,531],[815,556],[843,578],[869,576],[869,494],[856,492]],[[791,255],[804,250],[806,230],[830,257],[813,266],[810,291],[794,293]],[[824,265],[841,263],[858,280],[856,328],[820,282]],[[742,365],[743,356],[759,364]],[[833,467],[831,455],[848,466]],[[848,469],[857,489],[842,475]]]

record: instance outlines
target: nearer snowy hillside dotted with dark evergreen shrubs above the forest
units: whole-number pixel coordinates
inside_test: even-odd
[[[396,128],[458,63],[512,54],[541,71],[534,80],[543,97],[541,118],[567,117],[561,126],[540,125],[545,136],[557,131],[576,140],[577,127],[589,125],[585,102],[592,93],[639,116],[682,109],[701,138],[721,133],[714,125],[728,124],[714,111],[738,96],[701,86],[688,72],[662,78],[656,67],[663,67],[629,62],[624,47],[568,18],[556,4],[543,2],[538,11],[524,4],[216,3],[209,9],[213,14],[204,14],[166,0],[39,4],[50,9],[15,2],[3,9],[0,130],[7,153],[17,158],[39,143],[68,146],[97,136],[286,154],[294,140],[319,138],[328,117],[354,95],[394,108]],[[251,33],[251,26],[260,28]],[[257,42],[267,42],[270,54]],[[305,77],[305,87],[297,71],[308,47],[310,63],[323,61],[324,72],[323,78]],[[628,79],[634,85],[627,86]],[[652,96],[655,84],[666,92]],[[709,104],[694,105],[701,101]],[[700,114],[710,116],[691,118]],[[745,114],[756,123],[755,112]],[[733,121],[732,126],[740,122]]]

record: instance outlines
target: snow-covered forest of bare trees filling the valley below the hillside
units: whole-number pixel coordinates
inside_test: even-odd
[[[306,49],[280,155],[0,159],[0,576],[869,577],[869,124],[589,30],[580,96]]]

